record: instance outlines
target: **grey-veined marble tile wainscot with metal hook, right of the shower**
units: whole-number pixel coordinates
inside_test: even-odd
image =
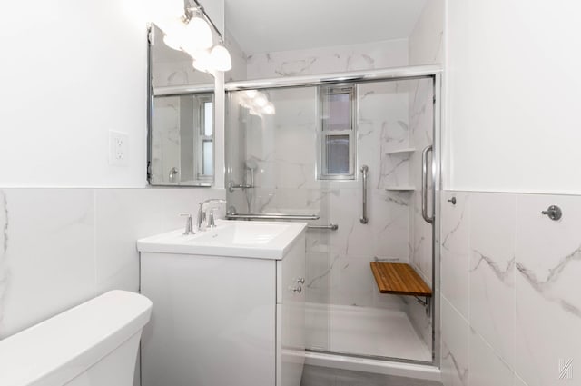
[[[552,204],[558,222],[541,214]],[[559,360],[581,361],[581,197],[444,192],[441,205],[444,384],[577,384]]]

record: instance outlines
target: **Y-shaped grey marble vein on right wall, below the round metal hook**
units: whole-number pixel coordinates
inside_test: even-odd
[[[571,302],[560,299],[555,295],[550,294],[551,286],[553,286],[559,279],[559,276],[565,271],[566,266],[574,261],[581,261],[581,246],[575,251],[563,257],[555,268],[548,270],[547,279],[542,280],[537,277],[535,272],[528,269],[523,263],[517,262],[517,270],[520,272],[531,287],[540,293],[547,301],[558,303],[563,310],[570,312],[578,318],[581,318],[581,310]]]

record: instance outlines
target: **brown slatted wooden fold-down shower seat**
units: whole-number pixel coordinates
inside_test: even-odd
[[[432,296],[432,290],[418,272],[403,262],[371,262],[379,292],[397,295]]]

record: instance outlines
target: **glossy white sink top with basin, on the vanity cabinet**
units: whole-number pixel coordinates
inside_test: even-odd
[[[183,235],[183,230],[137,241],[139,252],[185,253],[281,260],[306,223],[218,221],[205,232]]]

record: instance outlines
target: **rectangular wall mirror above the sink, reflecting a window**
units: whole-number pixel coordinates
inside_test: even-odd
[[[147,178],[154,186],[212,186],[214,78],[163,38],[151,25]]]

